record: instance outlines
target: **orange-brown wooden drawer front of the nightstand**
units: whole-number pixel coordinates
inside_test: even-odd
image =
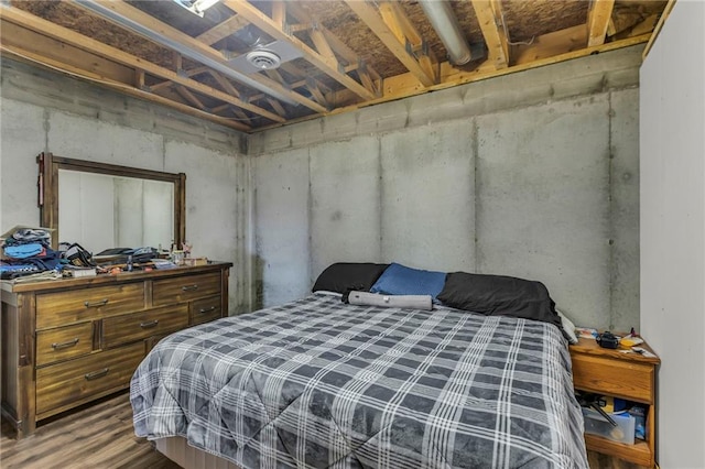
[[[573,355],[576,389],[652,403],[653,366],[636,361]]]

